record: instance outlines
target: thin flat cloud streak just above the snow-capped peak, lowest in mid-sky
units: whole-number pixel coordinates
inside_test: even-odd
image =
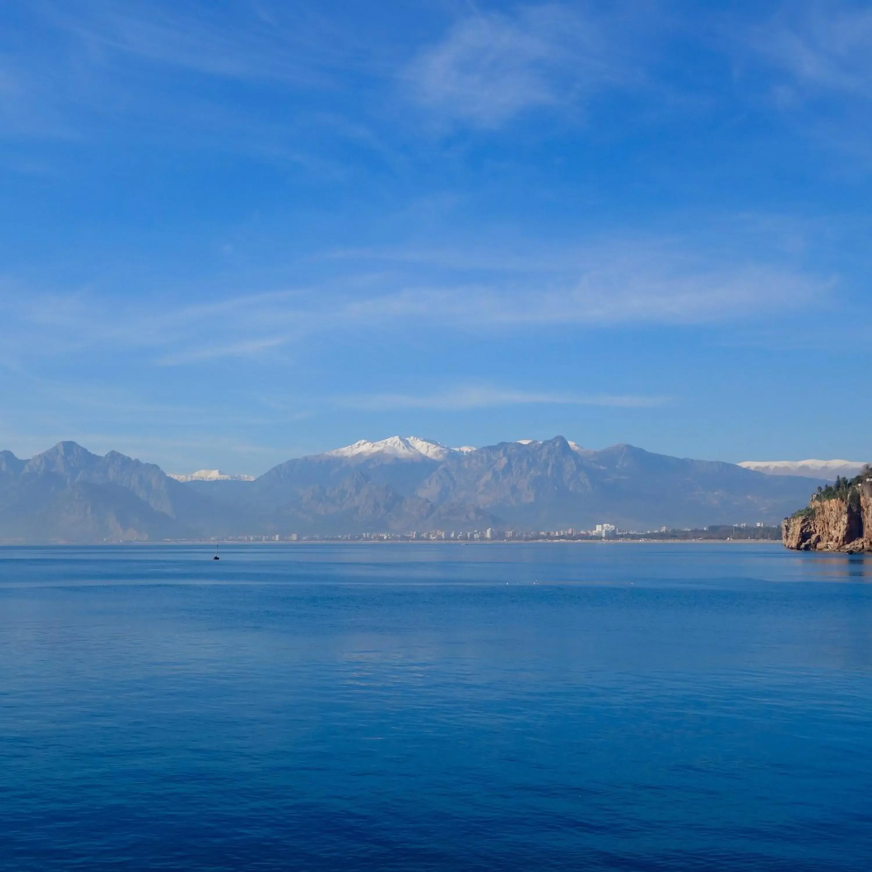
[[[670,402],[668,397],[613,394],[512,391],[496,387],[461,385],[431,394],[357,394],[333,402],[346,409],[387,411],[392,409],[433,409],[441,412],[481,409],[507,405],[598,405],[623,409],[644,409]]]

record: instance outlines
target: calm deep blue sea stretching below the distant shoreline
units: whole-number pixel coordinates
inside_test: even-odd
[[[0,548],[3,869],[872,868],[872,559]]]

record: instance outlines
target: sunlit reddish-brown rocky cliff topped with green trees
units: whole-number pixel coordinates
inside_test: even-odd
[[[844,498],[813,500],[806,512],[785,518],[782,542],[798,551],[872,551],[872,480],[858,490]]]

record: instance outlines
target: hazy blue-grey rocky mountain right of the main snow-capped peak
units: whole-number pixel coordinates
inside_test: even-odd
[[[796,494],[807,494],[815,483],[629,445],[578,451],[558,436],[448,460],[418,493],[434,501],[468,501],[521,527],[586,528],[610,521],[645,529],[777,520]]]

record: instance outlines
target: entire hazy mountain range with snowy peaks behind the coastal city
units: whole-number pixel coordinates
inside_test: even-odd
[[[74,442],[31,460],[0,452],[0,542],[772,523],[822,483],[562,436],[480,448],[395,436],[288,460],[254,480],[211,472],[177,480]]]

